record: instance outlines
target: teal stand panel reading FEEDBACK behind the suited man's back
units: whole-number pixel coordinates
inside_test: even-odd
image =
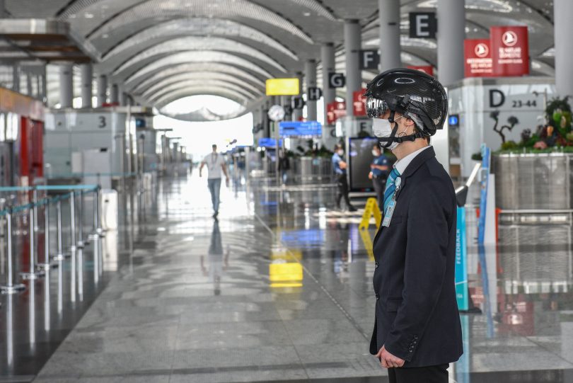
[[[465,207],[458,206],[458,221],[456,227],[456,300],[458,309],[468,311],[468,244],[465,236]]]

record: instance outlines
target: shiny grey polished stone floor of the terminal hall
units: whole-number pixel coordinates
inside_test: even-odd
[[[77,290],[69,303],[65,265],[28,290],[33,306],[29,292],[1,297],[0,381],[387,382],[368,353],[369,239],[360,214],[332,209],[334,193],[238,178],[217,222],[204,179],[160,181],[98,243],[100,274],[84,251],[82,304]],[[482,263],[474,229],[470,219],[470,295],[483,314],[461,316],[451,382],[573,382],[572,228],[502,226]]]

